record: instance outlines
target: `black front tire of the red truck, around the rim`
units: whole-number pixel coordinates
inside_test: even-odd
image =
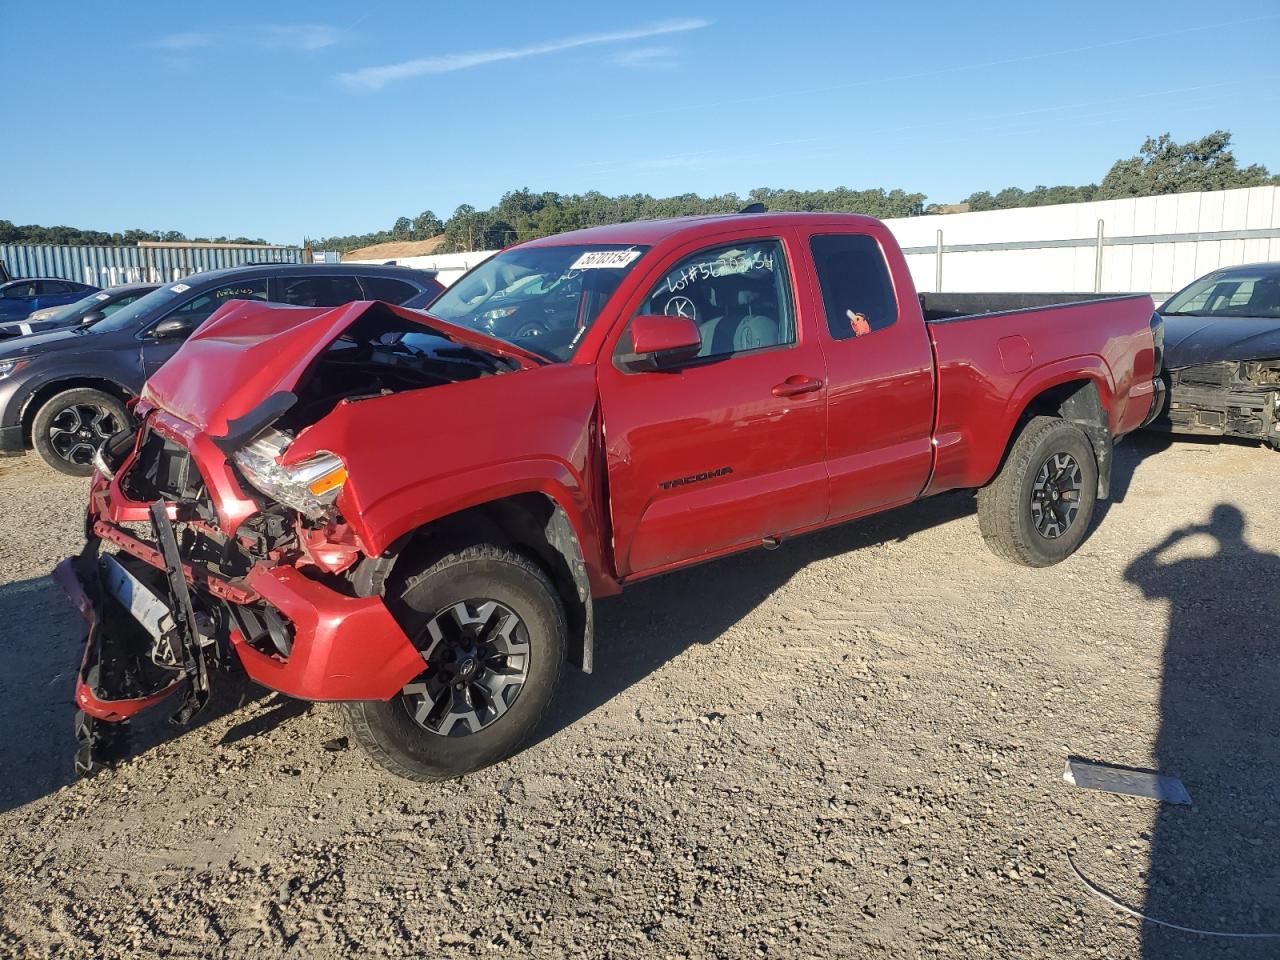
[[[564,608],[550,580],[526,557],[479,544],[388,585],[388,605],[411,637],[440,611],[474,598],[508,607],[529,634],[527,677],[490,726],[454,737],[433,733],[419,726],[401,695],[342,704],[352,739],[406,780],[452,780],[507,759],[541,723],[559,684],[568,644]]]

